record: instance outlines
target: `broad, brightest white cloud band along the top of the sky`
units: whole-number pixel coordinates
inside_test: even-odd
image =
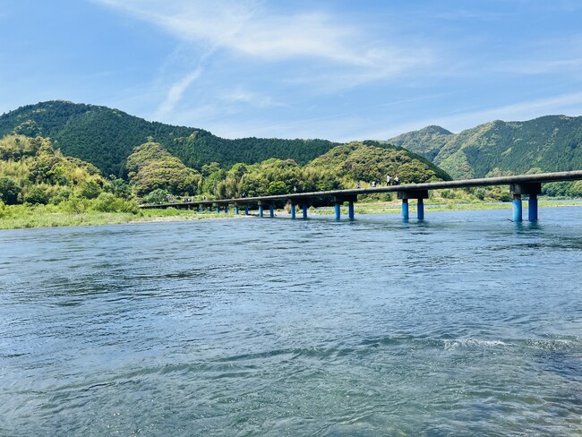
[[[410,66],[406,47],[371,43],[364,31],[329,13],[274,13],[256,1],[95,0],[150,21],[183,41],[223,48],[267,61],[314,57],[360,67]]]

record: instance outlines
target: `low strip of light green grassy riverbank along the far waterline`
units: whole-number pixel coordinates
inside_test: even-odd
[[[524,201],[524,208],[527,202]],[[582,199],[576,200],[553,200],[542,199],[539,201],[540,208],[548,207],[568,207],[582,206]],[[439,202],[432,203],[426,201],[424,210],[445,211],[445,210],[510,210],[510,202]],[[415,214],[415,201],[410,202],[411,217]],[[355,215],[358,214],[398,214],[401,211],[400,201],[374,201],[359,202],[355,204]],[[347,215],[347,207],[342,207],[342,215]],[[276,214],[280,216],[288,215],[286,210],[277,210]],[[310,208],[309,215],[332,215],[333,208]],[[257,211],[253,211],[257,215]],[[76,227],[76,226],[100,226],[116,225],[124,223],[142,223],[157,221],[186,221],[202,220],[217,218],[244,218],[246,216],[235,216],[234,211],[227,214],[214,211],[193,212],[192,210],[140,210],[137,213],[131,212],[98,212],[90,211],[79,214],[62,213],[46,210],[41,207],[23,208],[19,205],[18,209],[4,207],[0,215],[0,229],[19,229],[27,227]]]

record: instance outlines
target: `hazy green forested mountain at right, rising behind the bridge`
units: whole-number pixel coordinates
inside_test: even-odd
[[[428,126],[387,142],[431,159],[455,178],[582,169],[582,116],[496,120],[457,134]]]

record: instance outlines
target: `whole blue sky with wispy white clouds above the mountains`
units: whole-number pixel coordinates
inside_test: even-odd
[[[0,114],[333,141],[580,116],[581,23],[578,0],[0,0]]]

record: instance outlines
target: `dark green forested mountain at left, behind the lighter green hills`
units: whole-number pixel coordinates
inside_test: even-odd
[[[149,138],[194,168],[212,161],[230,166],[270,158],[306,164],[338,145],[325,140],[227,140],[202,129],[149,122],[117,109],[65,101],[20,107],[0,116],[0,137],[10,133],[50,137],[65,155],[87,160],[104,175],[116,176],[124,173],[133,148]]]

